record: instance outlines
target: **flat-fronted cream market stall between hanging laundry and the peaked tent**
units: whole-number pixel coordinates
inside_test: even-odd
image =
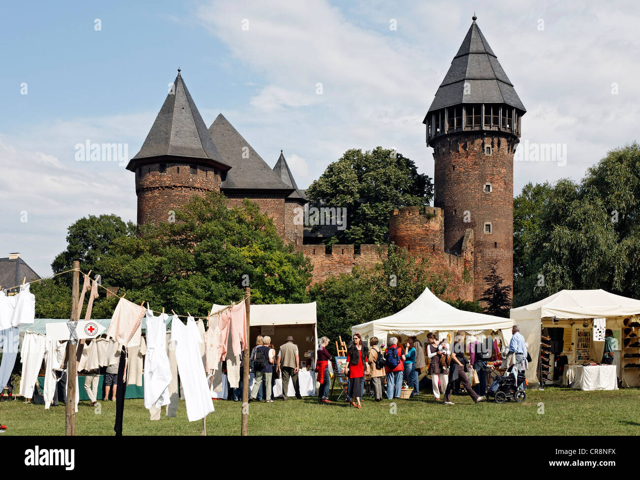
[[[212,310],[224,306],[214,304]],[[317,350],[317,317],[316,302],[308,304],[271,304],[253,305],[249,316],[249,346],[255,346],[257,336],[268,335],[278,355],[280,345],[283,345],[287,336],[294,338],[298,345],[300,355],[300,372],[298,383],[302,396],[312,396],[316,392],[316,380],[314,369],[316,368]],[[226,377],[223,377],[226,382]],[[253,382],[252,382],[253,383]],[[288,394],[294,396],[294,389],[289,381]],[[282,396],[282,380],[278,378],[274,385],[274,396]],[[215,392],[214,398],[222,398],[222,392]]]

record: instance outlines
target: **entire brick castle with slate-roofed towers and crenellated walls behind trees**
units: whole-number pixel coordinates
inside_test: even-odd
[[[428,258],[450,279],[449,298],[482,297],[493,261],[513,285],[513,153],[525,111],[474,15],[423,121],[435,206],[399,208],[389,218],[390,242]],[[138,224],[166,222],[192,196],[218,191],[231,205],[256,202],[285,242],[310,258],[314,282],[380,261],[376,245],[327,247],[305,235],[294,217],[307,199],[282,150],[271,168],[222,114],[207,128],[180,69],[127,169],[136,174]]]

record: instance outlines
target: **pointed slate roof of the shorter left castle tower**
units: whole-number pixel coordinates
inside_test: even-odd
[[[207,132],[202,116],[182,80],[180,69],[145,143],[131,159],[127,169],[135,170],[139,160],[166,156],[200,160],[223,171],[229,169]]]

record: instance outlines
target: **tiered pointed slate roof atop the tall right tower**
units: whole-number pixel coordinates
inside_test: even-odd
[[[429,112],[460,104],[507,104],[526,111],[497,56],[476,24],[469,27]],[[468,84],[465,94],[465,83]]]

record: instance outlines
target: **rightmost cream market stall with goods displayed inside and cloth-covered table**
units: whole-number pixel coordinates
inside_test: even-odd
[[[511,309],[510,316],[520,325],[520,333],[529,343],[532,358],[527,371],[529,383],[538,383],[539,375],[547,383],[561,383],[566,366],[599,364],[604,351],[602,333],[611,329],[617,340],[613,360],[616,376],[625,386],[640,386],[640,343],[637,341],[640,300],[604,290],[561,290],[539,302]],[[538,368],[543,332],[543,364],[550,364],[548,374]],[[577,369],[570,368],[569,371],[568,375],[578,376]],[[582,376],[585,372],[585,369],[580,371]],[[591,377],[586,375],[586,378]],[[589,387],[589,382],[586,383],[582,382],[582,385]],[[610,383],[603,382],[603,385]]]

